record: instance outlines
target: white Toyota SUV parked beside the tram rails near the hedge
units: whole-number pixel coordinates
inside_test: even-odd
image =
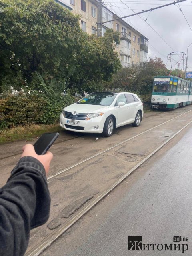
[[[139,126],[143,117],[140,98],[129,92],[93,92],[67,106],[60,114],[60,126],[75,132],[103,133],[109,137],[125,124]]]

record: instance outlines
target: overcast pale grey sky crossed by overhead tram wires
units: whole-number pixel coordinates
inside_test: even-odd
[[[115,12],[118,16],[122,17],[174,1],[104,0],[103,2],[105,2],[105,6],[110,8],[112,12]],[[149,39],[148,57],[160,57],[164,64],[167,64],[166,66],[169,69],[171,68],[171,63],[167,59],[168,54],[176,51],[187,54],[187,48],[189,44],[192,43],[192,1],[186,0],[180,2],[179,5],[180,7],[176,4],[175,6],[166,6],[153,10],[152,12],[145,12],[140,14],[141,18],[136,15],[124,19],[128,24]],[[130,10],[130,8],[132,10]],[[182,11],[180,11],[180,8]],[[156,34],[156,32],[158,34]],[[178,68],[176,62],[180,61],[181,57],[182,55],[172,56],[173,69]],[[184,59],[184,65],[183,61],[180,62],[180,70],[185,70],[186,56],[184,56]],[[192,44],[188,48],[187,71],[192,71]]]

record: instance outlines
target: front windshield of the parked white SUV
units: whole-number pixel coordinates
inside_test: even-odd
[[[102,106],[109,106],[114,101],[116,97],[115,93],[112,92],[95,92],[89,94],[79,100],[78,104],[89,104],[89,105],[102,105]]]

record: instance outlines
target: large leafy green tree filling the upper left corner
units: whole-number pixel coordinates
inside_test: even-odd
[[[44,81],[59,81],[56,90],[63,90],[82,44],[79,16],[52,0],[3,0],[0,10],[0,86],[34,89],[40,74]]]

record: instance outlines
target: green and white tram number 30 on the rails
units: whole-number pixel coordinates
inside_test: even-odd
[[[151,107],[174,109],[192,104],[192,82],[176,76],[156,76]]]

